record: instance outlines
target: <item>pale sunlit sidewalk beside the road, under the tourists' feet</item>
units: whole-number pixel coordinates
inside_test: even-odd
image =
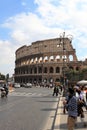
[[[60,97],[56,120],[54,124],[54,130],[67,130],[67,113],[63,114],[63,99],[64,97]],[[87,111],[84,109],[85,113],[85,121],[87,123]],[[83,124],[81,123],[80,117],[77,118],[77,127],[75,127],[75,130],[87,130],[87,127],[83,127]]]

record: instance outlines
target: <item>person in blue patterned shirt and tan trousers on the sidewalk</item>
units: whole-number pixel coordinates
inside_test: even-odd
[[[73,88],[68,89],[68,100],[65,102],[65,107],[68,111],[68,118],[67,118],[67,127],[68,130],[74,130],[75,127],[75,122],[77,119],[77,98],[74,95],[74,90]]]

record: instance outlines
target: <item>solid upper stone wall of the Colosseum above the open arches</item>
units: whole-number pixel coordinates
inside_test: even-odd
[[[33,42],[29,46],[23,46],[16,51],[16,59],[21,57],[43,54],[44,56],[50,55],[63,55],[63,46],[57,47],[60,44],[60,39],[49,39],[44,41]],[[64,48],[65,54],[69,57],[69,55],[73,56],[73,60],[77,61],[77,57],[75,54],[75,49],[73,49],[72,44],[70,43],[68,38],[64,39]]]

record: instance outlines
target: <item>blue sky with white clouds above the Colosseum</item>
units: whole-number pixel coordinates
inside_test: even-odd
[[[73,36],[78,60],[87,58],[87,0],[0,1],[0,72],[14,73],[15,51],[37,40]]]

